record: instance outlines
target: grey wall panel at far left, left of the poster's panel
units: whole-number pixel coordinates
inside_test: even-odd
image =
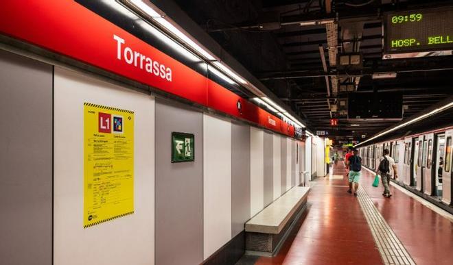
[[[0,264],[51,264],[52,66],[0,51]]]

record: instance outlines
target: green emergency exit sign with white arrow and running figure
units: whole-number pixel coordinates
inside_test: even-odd
[[[195,160],[195,136],[172,132],[172,163]]]

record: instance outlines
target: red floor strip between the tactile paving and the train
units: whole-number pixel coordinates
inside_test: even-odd
[[[373,175],[362,171],[362,185],[377,209],[418,265],[453,264],[453,223],[391,186],[391,199],[382,185],[371,186]]]

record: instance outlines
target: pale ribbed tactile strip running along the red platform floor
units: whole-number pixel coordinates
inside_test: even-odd
[[[362,186],[358,189],[358,201],[365,218],[367,218],[371,234],[373,234],[384,264],[415,265],[414,260],[406,251],[402,242],[399,241],[391,227],[388,226],[386,220],[377,210]]]

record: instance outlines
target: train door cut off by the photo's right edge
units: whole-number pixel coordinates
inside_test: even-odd
[[[442,173],[442,201],[447,205],[452,202],[452,138],[453,129],[445,131],[445,157]]]

